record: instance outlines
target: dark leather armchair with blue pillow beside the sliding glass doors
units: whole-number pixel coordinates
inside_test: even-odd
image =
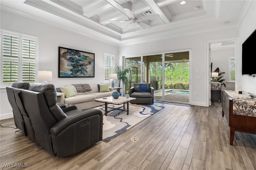
[[[153,104],[154,103],[154,88],[151,83],[134,83],[130,88],[129,95],[136,100],[132,100],[131,104]]]

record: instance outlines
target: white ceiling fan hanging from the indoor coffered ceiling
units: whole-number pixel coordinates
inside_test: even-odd
[[[126,15],[128,16],[127,20],[109,20],[109,21],[129,21],[130,23],[128,23],[128,25],[124,28],[124,31],[127,31],[133,23],[134,23],[134,26],[135,26],[135,23],[137,23],[142,28],[148,28],[148,29],[152,28],[150,25],[148,25],[148,24],[146,24],[142,21],[159,18],[160,15],[159,14],[152,14],[152,15],[148,15],[148,16],[138,17],[134,14],[134,2],[136,2],[136,0],[132,0],[132,2],[133,2],[133,14],[132,14],[130,9],[124,8],[124,10],[126,12]],[[134,27],[134,32],[135,32],[135,27]]]

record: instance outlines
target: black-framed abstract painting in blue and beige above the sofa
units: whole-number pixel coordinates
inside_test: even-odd
[[[58,78],[94,77],[94,53],[58,47]]]

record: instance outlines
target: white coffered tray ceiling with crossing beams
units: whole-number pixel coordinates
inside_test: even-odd
[[[186,0],[183,5],[180,2],[1,0],[0,3],[2,10],[121,45],[237,27],[252,1]]]

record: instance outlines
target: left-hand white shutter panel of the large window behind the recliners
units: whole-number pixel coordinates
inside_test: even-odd
[[[3,35],[3,83],[18,82],[18,35]]]

